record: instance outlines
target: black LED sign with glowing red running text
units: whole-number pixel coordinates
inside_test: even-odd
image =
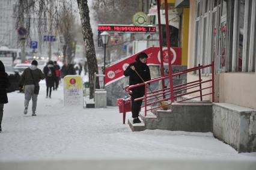
[[[156,26],[98,25],[98,31],[115,32],[156,32]]]

